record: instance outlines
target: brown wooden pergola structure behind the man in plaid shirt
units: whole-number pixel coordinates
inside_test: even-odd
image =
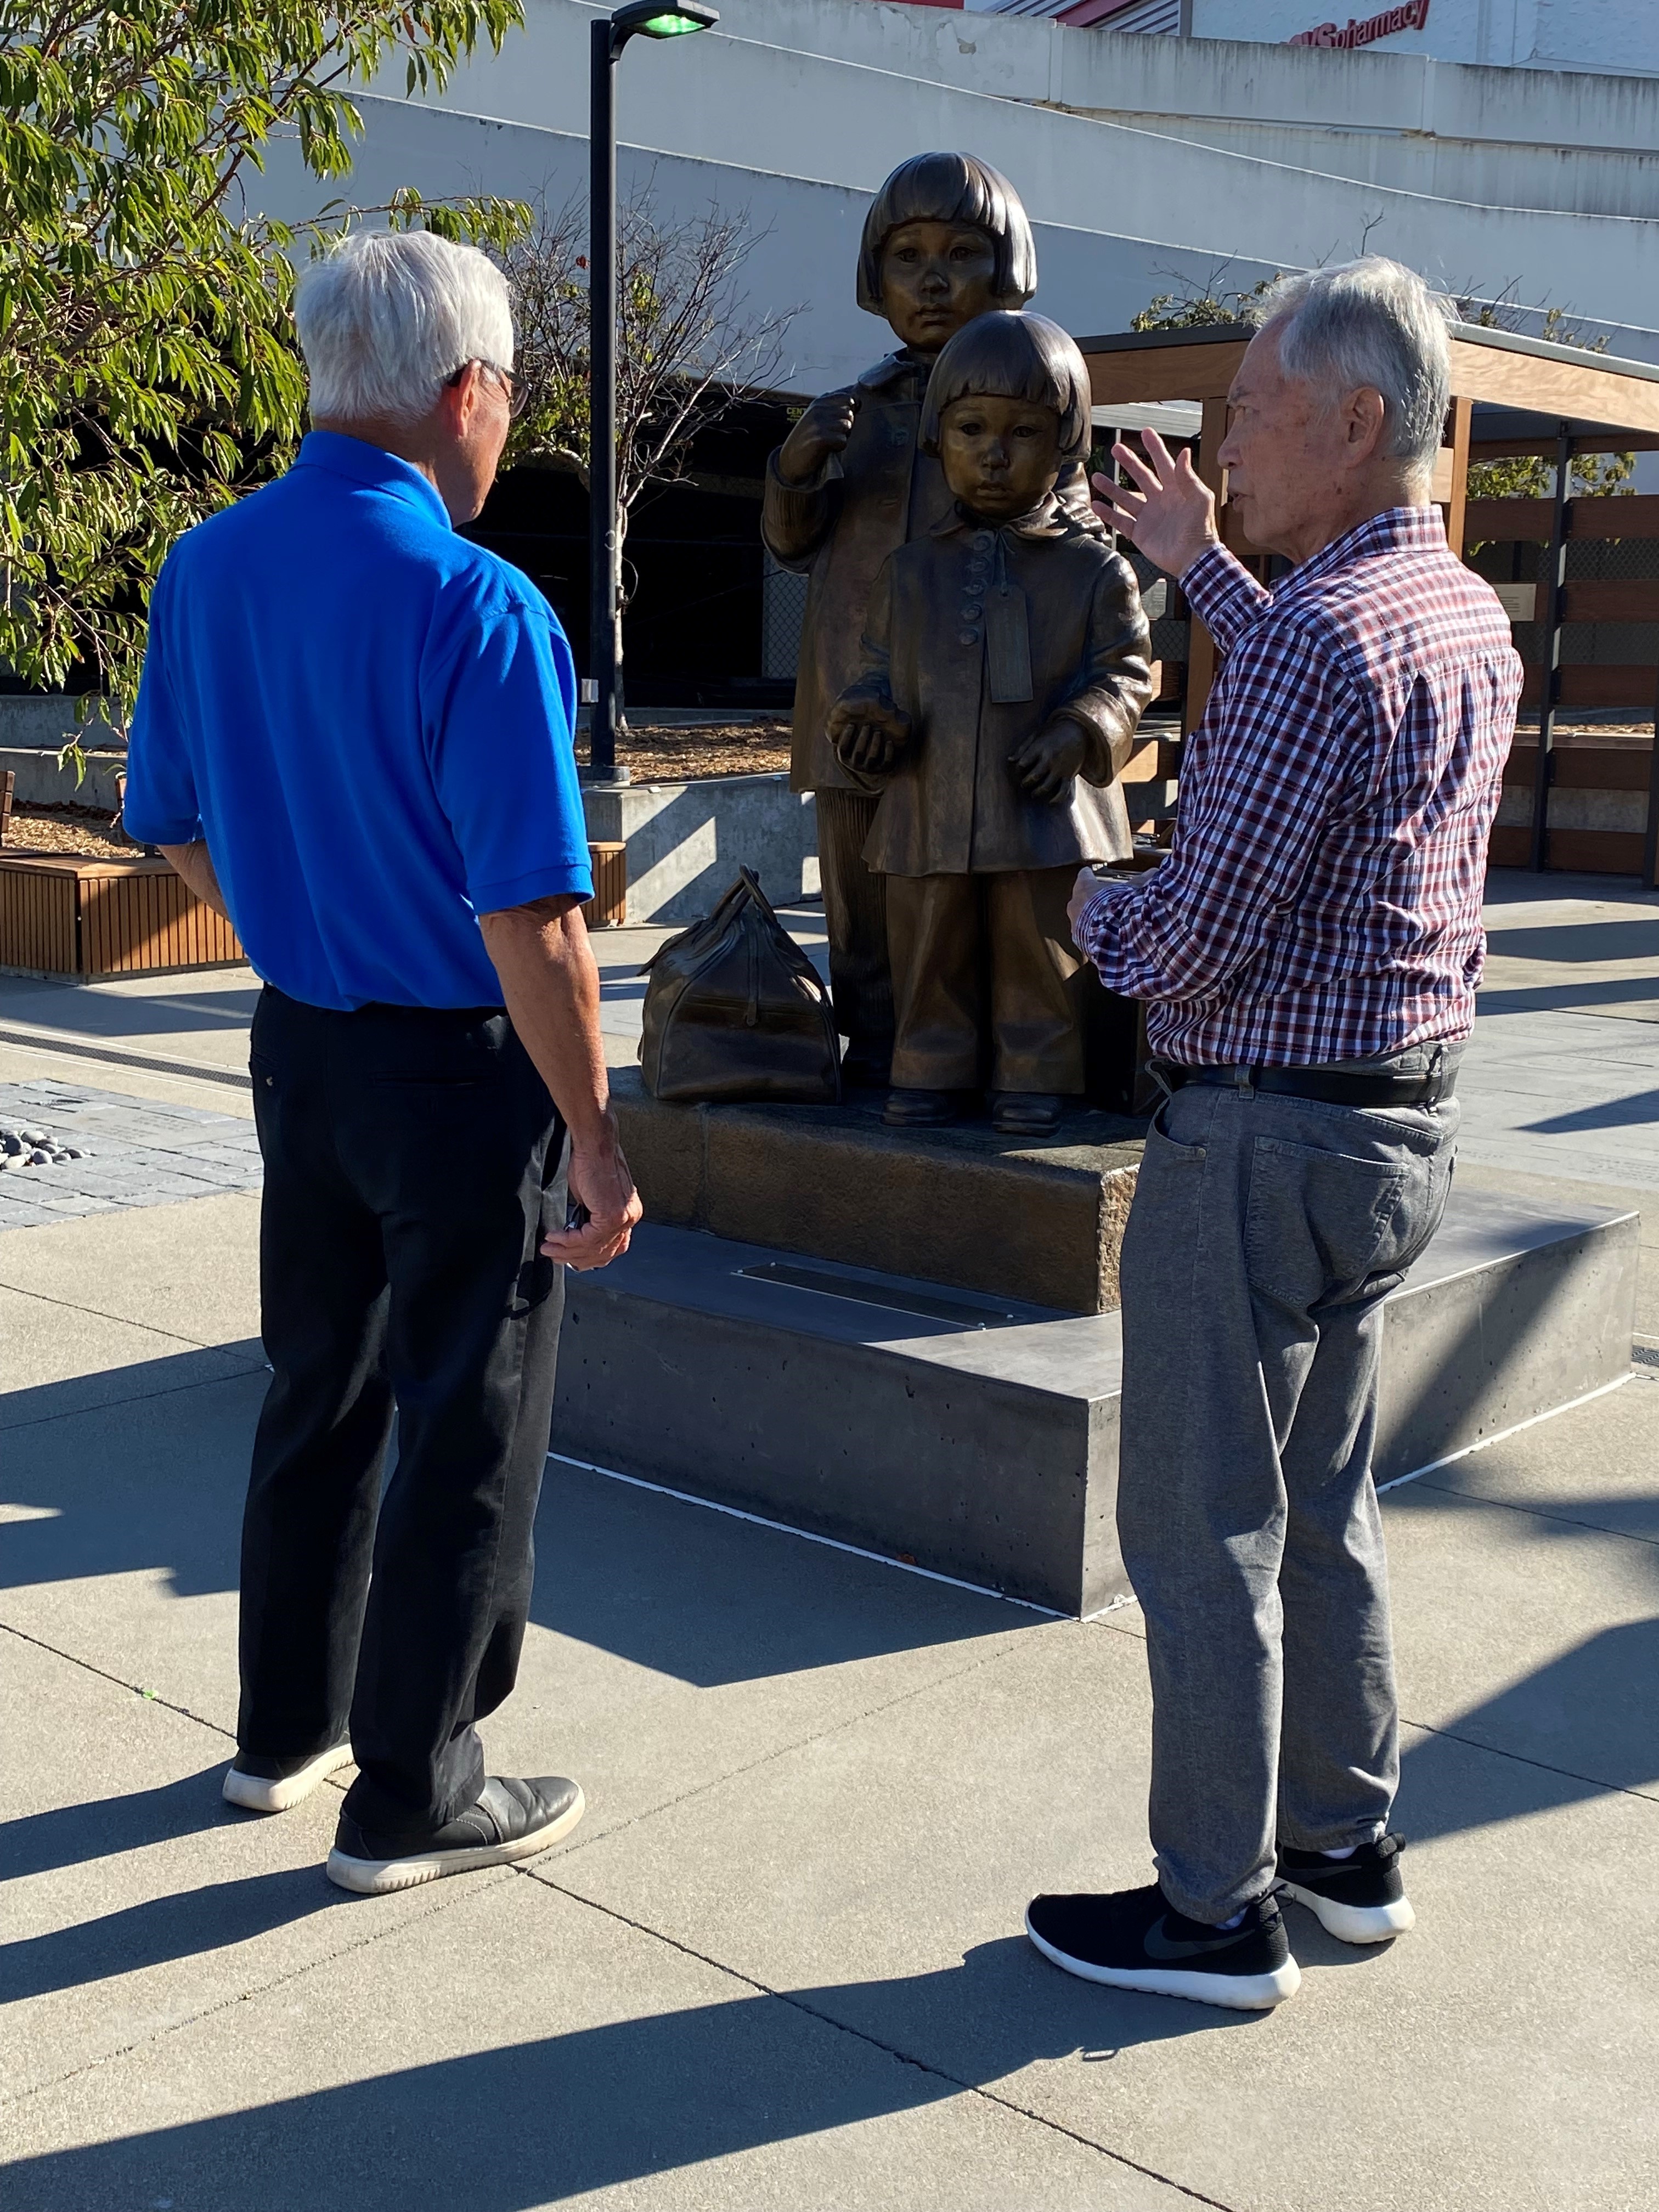
[[[1097,422],[1115,422],[1115,407],[1130,416],[1170,400],[1197,403],[1199,476],[1221,504],[1223,540],[1248,562],[1265,555],[1252,546],[1225,507],[1225,471],[1217,451],[1228,431],[1228,387],[1254,332],[1243,323],[1199,330],[1124,332],[1079,338],[1095,392]],[[1575,661],[1566,626],[1586,622],[1659,624],[1659,557],[1652,575],[1628,580],[1568,577],[1568,549],[1588,540],[1659,540],[1659,498],[1571,498],[1571,460],[1577,453],[1659,449],[1659,367],[1608,361],[1579,347],[1548,345],[1502,330],[1462,323],[1451,338],[1451,407],[1436,469],[1436,500],[1458,555],[1467,546],[1513,549],[1513,582],[1495,580],[1511,622],[1531,624],[1537,639],[1526,655],[1522,710],[1537,710],[1537,734],[1517,741],[1504,776],[1504,821],[1493,832],[1500,865],[1564,867],[1641,874],[1659,883],[1659,650],[1637,661]],[[1535,453],[1555,465],[1555,495],[1544,500],[1471,500],[1469,465]],[[1522,580],[1522,549],[1546,549],[1537,577]],[[1491,566],[1491,562],[1486,562]],[[1172,604],[1170,613],[1179,608]],[[1181,730],[1203,712],[1214,677],[1214,648],[1201,622],[1188,617],[1183,666],[1164,664],[1161,695],[1181,699]],[[1564,710],[1626,710],[1650,728],[1597,741],[1595,732],[1559,734]],[[1130,763],[1130,779],[1146,787],[1141,821],[1168,830],[1179,774],[1179,745],[1148,741]],[[1562,799],[1553,794],[1608,794]],[[1524,796],[1522,796],[1524,794]],[[1617,799],[1613,794],[1626,794]],[[1646,796],[1646,807],[1644,807]],[[1573,823],[1571,816],[1579,814]],[[1135,816],[1135,807],[1130,807]],[[1555,816],[1555,818],[1553,818]]]

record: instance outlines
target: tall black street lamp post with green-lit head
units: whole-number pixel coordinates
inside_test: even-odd
[[[626,783],[617,768],[617,93],[622,49],[641,38],[684,38],[719,22],[699,0],[633,0],[615,15],[599,15],[591,31],[593,75],[588,108],[588,679],[582,697],[593,710],[588,781]]]

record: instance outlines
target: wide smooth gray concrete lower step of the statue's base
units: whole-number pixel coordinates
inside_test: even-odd
[[[1635,1212],[1458,1192],[1387,1303],[1378,1484],[1630,1367]],[[1128,1595],[1119,1314],[646,1225],[571,1276],[553,1449],[1055,1613]]]

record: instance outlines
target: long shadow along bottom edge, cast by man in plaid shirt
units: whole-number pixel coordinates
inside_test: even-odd
[[[434,2002],[442,2002],[438,1993]],[[900,2022],[922,2013],[973,2022],[980,2064],[953,2077],[911,2057],[896,2013]],[[878,2042],[841,2033],[843,2022],[863,2017],[880,2022]],[[1250,2033],[1259,2024],[1261,2015],[1084,1989],[1044,1966],[1022,1938],[1006,1938],[942,1973],[790,1997],[741,1995],[509,2042],[18,2159],[7,2183],[11,2201],[29,2212],[157,2199],[181,2212],[228,2203],[239,2212],[526,2212],[765,2143],[916,2112],[1026,2064],[1068,2059],[1079,2046],[1099,2062],[1135,2044]],[[327,2044],[316,2042],[321,2022],[296,2033],[330,2053],[325,2066],[349,2064],[349,2033],[338,2028]],[[374,2048],[385,2048],[378,2035]],[[208,2095],[228,2088],[215,2075]],[[714,2194],[728,2201],[726,2188],[710,2203]]]

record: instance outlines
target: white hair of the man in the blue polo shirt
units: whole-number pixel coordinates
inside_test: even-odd
[[[418,422],[467,361],[513,367],[507,279],[434,230],[358,230],[301,272],[312,420]]]

